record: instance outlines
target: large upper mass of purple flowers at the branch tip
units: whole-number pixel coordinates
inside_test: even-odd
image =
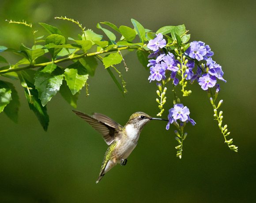
[[[149,41],[147,45],[148,49],[154,51],[149,55],[150,59],[150,82],[152,80],[161,81],[162,79],[173,79],[173,84],[176,86],[179,83],[177,78],[177,71],[181,68],[181,63],[175,59],[173,53],[168,52],[167,54],[163,52],[162,48],[166,47],[166,40],[163,38],[161,33],[156,35],[156,38]],[[168,50],[168,49],[167,49]],[[226,82],[223,79],[222,67],[212,60],[211,56],[214,53],[211,51],[209,45],[205,45],[202,41],[192,41],[188,49],[184,52],[184,56],[188,58],[187,63],[185,64],[184,78],[190,80],[190,82],[198,81],[199,85],[203,90],[208,90],[208,88],[215,87],[217,88],[216,83],[217,79],[220,79]],[[196,62],[196,65],[195,65]],[[201,65],[198,65],[198,62],[204,62]],[[179,64],[179,65],[178,65]],[[193,69],[196,67],[196,73]],[[170,74],[167,75],[166,71],[170,71]],[[218,84],[217,84],[218,85]],[[219,86],[218,86],[219,88]]]

